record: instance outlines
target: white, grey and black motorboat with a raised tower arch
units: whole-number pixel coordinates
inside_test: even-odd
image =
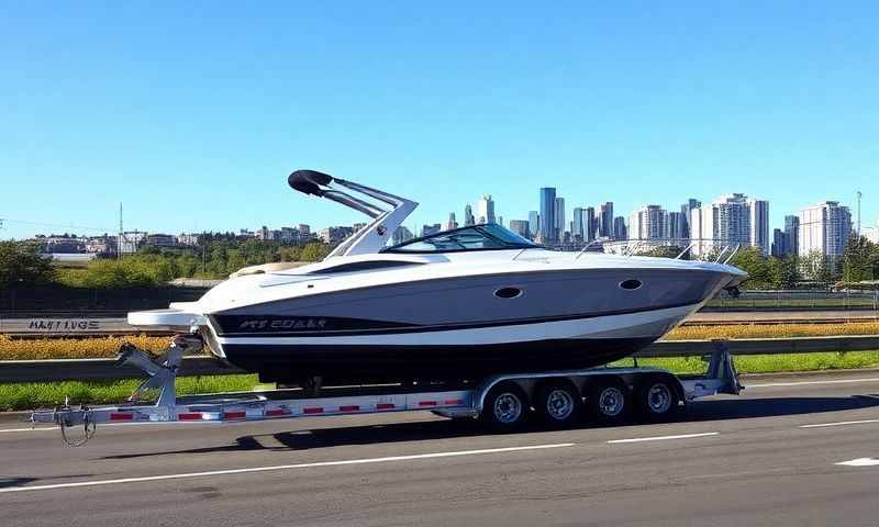
[[[323,261],[245,269],[129,323],[199,334],[263,382],[476,381],[631,356],[747,278],[720,261],[549,250],[497,224],[393,244],[414,201],[314,170],[288,182],[371,221]]]

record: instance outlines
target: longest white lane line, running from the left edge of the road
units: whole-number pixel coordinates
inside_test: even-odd
[[[315,463],[277,464],[274,467],[252,467],[248,469],[212,470],[208,472],[185,472],[180,474],[147,475],[143,478],[122,478],[119,480],[80,481],[76,483],[57,483],[53,485],[15,486],[0,489],[0,493],[24,491],[48,491],[53,489],[74,489],[79,486],[115,485],[121,483],[138,483],[144,481],[181,480],[186,478],[203,478],[210,475],[245,474],[251,472],[272,472],[279,470],[311,469],[315,467],[340,467],[344,464],[387,463],[391,461],[412,461],[416,459],[452,458],[456,456],[478,456],[481,453],[519,452],[523,450],[545,450],[549,448],[572,447],[574,442],[553,445],[531,445],[527,447],[487,448],[482,450],[457,450],[452,452],[415,453],[411,456],[392,456],[388,458],[347,459],[344,461],[319,461]]]

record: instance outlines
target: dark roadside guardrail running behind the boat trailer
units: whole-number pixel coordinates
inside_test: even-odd
[[[879,335],[842,337],[800,337],[727,340],[732,355],[814,354],[822,351],[866,351],[879,349]],[[635,355],[638,358],[693,357],[708,355],[714,340],[663,340]],[[0,361],[0,383],[111,381],[143,379],[131,367],[116,368],[115,359],[56,359]],[[178,377],[227,375],[244,373],[211,357],[185,357]]]

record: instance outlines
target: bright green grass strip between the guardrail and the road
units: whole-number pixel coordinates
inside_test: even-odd
[[[632,366],[623,359],[612,366]],[[705,363],[699,357],[639,359],[638,366],[653,366],[675,373],[704,373]],[[879,350],[845,354],[755,355],[736,357],[739,373],[772,373],[781,371],[815,371],[879,367]],[[0,384],[0,412],[53,407],[69,396],[71,404],[118,404],[124,401],[140,381],[67,381],[23,382]],[[245,392],[271,389],[259,384],[256,375],[185,377],[177,380],[177,393]]]

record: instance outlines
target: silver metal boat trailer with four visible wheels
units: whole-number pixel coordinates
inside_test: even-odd
[[[553,426],[568,425],[585,411],[602,422],[637,415],[663,419],[686,402],[719,393],[737,394],[742,386],[728,348],[717,341],[705,357],[706,373],[678,377],[656,368],[594,368],[575,371],[518,372],[449,384],[341,386],[271,390],[178,397],[177,371],[185,354],[200,350],[198,336],[178,335],[165,355],[153,359],[132,345],[120,349],[116,366],[143,370],[146,379],[119,406],[80,405],[35,411],[32,423],[54,423],[70,446],[84,445],[99,423],[238,423],[285,417],[433,411],[452,418],[479,418],[496,431],[519,429],[530,415]],[[141,401],[158,390],[155,403]],[[533,408],[533,412],[532,412]],[[82,426],[80,439],[68,431]]]

